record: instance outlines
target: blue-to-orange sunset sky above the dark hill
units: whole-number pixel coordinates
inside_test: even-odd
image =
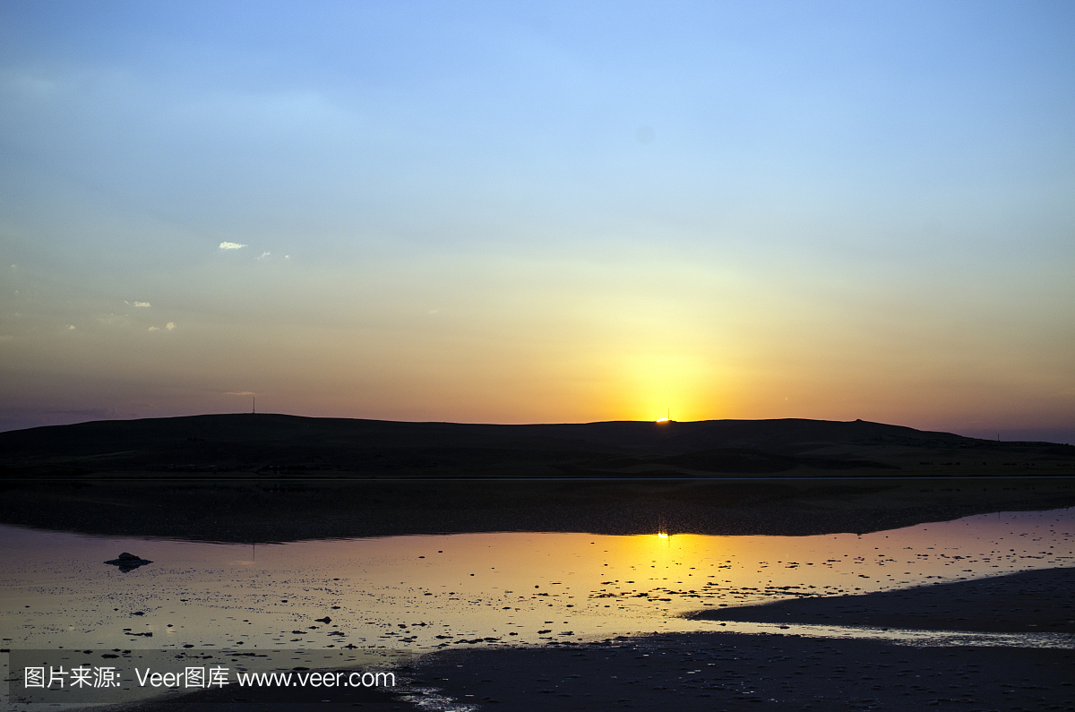
[[[1075,4],[0,2],[0,428],[1075,443]]]

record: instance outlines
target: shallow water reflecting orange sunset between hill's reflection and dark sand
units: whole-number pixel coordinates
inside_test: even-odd
[[[154,563],[127,573],[103,564],[124,551]],[[13,649],[415,652],[655,631],[755,632],[775,627],[718,627],[679,614],[1066,566],[1075,566],[1071,509],[863,536],[507,532],[257,546],[0,527],[0,631],[3,647]],[[330,623],[316,621],[326,615]],[[780,632],[902,635],[833,626]],[[975,640],[1014,644],[1010,636]]]

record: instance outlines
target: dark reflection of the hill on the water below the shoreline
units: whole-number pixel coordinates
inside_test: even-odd
[[[476,531],[808,536],[1075,505],[1075,478],[0,481],[0,523],[272,543]]]

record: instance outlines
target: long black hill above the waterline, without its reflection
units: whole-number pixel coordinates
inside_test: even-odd
[[[799,418],[481,425],[197,415],[2,432],[0,453],[4,475],[31,478],[1043,474],[1070,473],[1075,462],[1069,445]]]

